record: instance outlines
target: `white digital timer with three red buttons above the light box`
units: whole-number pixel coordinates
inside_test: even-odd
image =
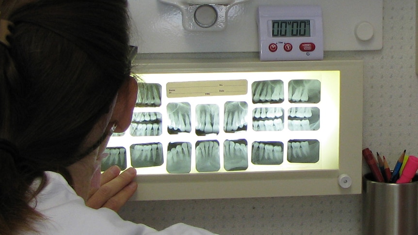
[[[257,24],[261,61],[323,59],[320,6],[259,6]]]

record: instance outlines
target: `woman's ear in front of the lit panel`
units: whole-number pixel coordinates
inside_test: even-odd
[[[118,91],[116,104],[110,123],[117,122],[115,132],[124,132],[132,121],[133,108],[138,95],[138,84],[135,78],[125,81]]]

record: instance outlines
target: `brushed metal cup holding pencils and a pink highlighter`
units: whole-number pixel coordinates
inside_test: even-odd
[[[363,235],[417,235],[418,174],[405,184],[373,180],[363,176]]]

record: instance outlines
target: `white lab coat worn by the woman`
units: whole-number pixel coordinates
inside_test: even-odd
[[[42,235],[213,235],[183,223],[156,231],[144,224],[123,220],[108,208],[92,209],[61,174],[46,172],[46,187],[36,197],[36,210],[46,220],[36,224]]]

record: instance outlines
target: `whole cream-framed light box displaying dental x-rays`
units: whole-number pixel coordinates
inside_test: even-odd
[[[362,62],[137,68],[132,123],[102,164],[137,169],[135,200],[360,193]]]

